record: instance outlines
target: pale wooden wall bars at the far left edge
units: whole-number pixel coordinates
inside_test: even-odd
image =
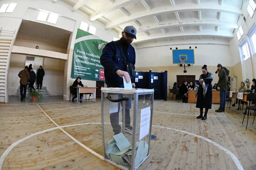
[[[15,31],[0,29],[0,102],[8,102],[7,72]]]

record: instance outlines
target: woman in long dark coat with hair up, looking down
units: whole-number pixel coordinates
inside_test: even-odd
[[[212,107],[212,82],[213,75],[207,71],[207,65],[202,67],[202,75],[199,77],[199,88],[196,89],[195,95],[197,95],[196,106],[200,108],[200,115],[196,119],[206,120],[208,110]],[[205,108],[204,115],[203,108]]]

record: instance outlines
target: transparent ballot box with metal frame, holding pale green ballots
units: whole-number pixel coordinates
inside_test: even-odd
[[[106,161],[123,170],[136,170],[148,158],[153,101],[154,89],[101,88]]]

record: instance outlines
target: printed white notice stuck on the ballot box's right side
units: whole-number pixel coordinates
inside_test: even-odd
[[[141,109],[140,140],[148,134],[149,124],[150,124],[150,107],[146,107]]]

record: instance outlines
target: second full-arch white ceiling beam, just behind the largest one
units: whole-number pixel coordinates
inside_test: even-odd
[[[143,27],[139,28],[137,30],[137,32],[165,29],[165,28],[177,27],[177,26],[199,26],[199,25],[238,28],[237,23],[226,23],[226,22],[221,22],[221,21],[186,20],[186,21],[182,21],[182,22],[161,23],[161,24],[157,24],[157,25],[156,24],[144,25]]]

